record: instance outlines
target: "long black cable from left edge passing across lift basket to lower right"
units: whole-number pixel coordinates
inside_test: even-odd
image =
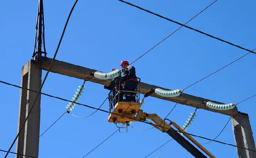
[[[0,82],[1,82],[1,83],[4,83],[4,82],[2,82],[2,81],[0,81]],[[6,83],[6,82],[5,82],[5,83]],[[9,83],[8,85],[11,85],[11,84]],[[19,87],[19,86],[16,86],[16,85],[15,85],[15,87]],[[22,87],[21,87],[21,88],[22,88]],[[22,89],[27,89],[27,88],[22,88]],[[27,90],[30,91],[30,89],[27,89]],[[33,90],[32,90],[32,91],[33,91]],[[43,93],[41,93],[41,94],[43,94]],[[47,94],[47,96],[51,96],[51,95]],[[254,96],[256,96],[256,94],[255,94]],[[252,97],[254,97],[254,96],[252,96]],[[60,100],[64,100],[64,101],[67,101],[67,102],[72,102],[72,101],[70,101],[70,100],[63,99],[63,98],[60,98],[60,97],[55,97],[55,96],[52,96],[52,97],[58,98],[58,99],[60,99]],[[249,97],[249,98],[252,98],[252,97]],[[247,99],[249,99],[249,98],[247,98]],[[244,99],[244,100],[242,100],[241,102],[244,102],[244,101],[247,100],[247,99]],[[241,103],[241,102],[239,102],[239,103]],[[76,102],[74,102],[74,103],[76,103]],[[84,107],[88,107],[88,108],[91,108],[91,109],[98,109],[98,108],[94,108],[94,107],[91,107],[91,106],[89,106],[89,105],[85,105],[85,104],[81,104],[81,103],[76,103],[76,104],[82,105],[82,106],[84,106]],[[98,109],[98,110],[99,110],[99,111],[103,111],[103,112],[105,112],[105,113],[114,114],[114,113],[109,112],[109,111],[106,111],[106,110],[102,110],[102,109]],[[114,115],[122,116],[122,115],[119,115],[119,114],[114,114]],[[136,119],[131,118],[131,117],[128,117],[128,116],[122,116],[122,117],[131,119],[131,120],[136,120]],[[153,125],[153,126],[157,126],[157,127],[161,127],[161,128],[164,128],[164,129],[168,129],[167,127],[159,126],[159,125],[153,124],[153,123],[151,123],[151,122],[146,122],[146,121],[141,121],[141,120],[136,120],[136,121],[138,121],[138,122],[143,122],[143,123],[145,123],[145,124],[149,124],[149,125]],[[180,131],[175,130],[175,129],[174,129],[174,131],[180,132]],[[206,140],[212,140],[212,139],[209,139],[209,138],[206,138],[206,137],[201,137],[201,136],[189,134],[189,133],[187,133],[187,132],[180,132],[180,133],[187,134],[187,135],[191,135],[191,136],[194,136],[194,137],[203,138],[203,139],[206,139]],[[220,142],[220,141],[216,141],[216,140],[212,140],[212,141],[218,142],[218,143],[221,143],[221,144],[225,144],[225,145],[229,145],[229,146],[233,146],[233,147],[238,147],[238,148],[242,148],[242,149],[246,149],[246,150],[250,150],[250,151],[256,152],[255,150],[252,150],[252,149],[248,149],[248,148],[244,148],[244,147],[239,147],[239,146],[231,145],[231,144],[224,143],[224,142]]]

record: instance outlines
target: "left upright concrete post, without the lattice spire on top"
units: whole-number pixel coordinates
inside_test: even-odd
[[[28,61],[21,70],[21,86],[24,88],[39,91],[41,86],[42,69],[41,66]],[[18,116],[18,129],[20,130],[25,121],[29,109],[36,98],[37,93],[21,89],[20,105]],[[16,153],[28,156],[38,157],[39,150],[39,129],[40,129],[40,102],[41,94],[39,94],[30,117],[26,121],[25,126],[21,129],[21,133],[16,142]],[[16,155],[15,158],[22,158]],[[25,157],[24,158],[28,158]]]

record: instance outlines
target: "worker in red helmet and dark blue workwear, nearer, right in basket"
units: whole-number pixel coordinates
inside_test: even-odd
[[[138,85],[138,80],[135,72],[135,67],[129,65],[128,61],[121,61],[120,66],[122,66],[122,77],[121,82],[124,84],[123,91],[133,91],[133,92],[124,92],[124,97],[128,102],[134,101],[136,102],[136,93],[134,93],[135,89]]]

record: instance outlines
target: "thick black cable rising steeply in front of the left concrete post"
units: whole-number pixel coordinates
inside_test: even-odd
[[[71,13],[73,12],[74,7],[75,7],[75,5],[76,5],[77,2],[78,2],[78,0],[75,1],[75,3],[74,3],[74,5],[73,5],[72,9],[70,10],[68,19],[67,19],[67,21],[66,21],[66,24],[65,24],[64,29],[63,29],[63,32],[62,32],[62,36],[60,37],[60,40],[59,40],[58,47],[57,47],[57,49],[56,49],[56,51],[55,51],[55,54],[54,54],[53,59],[52,59],[52,62],[50,63],[49,68],[48,68],[48,70],[47,70],[47,72],[46,72],[46,76],[44,77],[44,80],[43,80],[43,82],[42,82],[42,85],[41,85],[40,88],[39,88],[39,91],[38,91],[38,93],[37,93],[37,95],[36,95],[36,98],[34,99],[34,102],[33,102],[33,104],[31,105],[31,108],[30,108],[30,110],[29,110],[29,112],[28,112],[28,115],[27,115],[25,121],[24,121],[23,124],[21,125],[20,130],[18,131],[17,136],[15,137],[14,141],[12,142],[12,145],[10,146],[10,148],[9,148],[8,152],[6,153],[6,155],[5,155],[4,158],[6,158],[6,157],[8,156],[8,154],[9,154],[11,148],[14,146],[14,143],[15,143],[15,141],[17,140],[17,138],[18,138],[18,136],[19,136],[19,134],[20,134],[20,132],[21,132],[22,127],[25,125],[25,123],[26,123],[28,117],[29,117],[30,114],[31,114],[31,110],[32,110],[33,107],[34,107],[34,103],[36,102],[36,99],[37,99],[37,97],[39,96],[39,93],[41,92],[41,90],[42,90],[42,88],[43,88],[44,82],[46,81],[46,78],[47,78],[47,76],[48,76],[48,74],[49,74],[49,72],[50,72],[50,71],[49,71],[49,70],[50,70],[50,67],[52,66],[52,63],[53,63],[53,61],[55,60],[55,58],[56,58],[56,56],[57,56],[57,53],[58,53],[58,50],[59,50],[59,47],[60,47],[60,43],[62,42],[62,38],[63,38],[63,36],[64,36],[66,27],[67,27],[68,22],[69,22],[69,18],[70,18],[70,16],[71,16]]]

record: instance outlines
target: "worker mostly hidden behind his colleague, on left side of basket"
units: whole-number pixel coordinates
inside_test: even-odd
[[[116,69],[111,69],[111,71],[114,71]],[[115,86],[116,85],[116,86]],[[120,86],[120,87],[119,87]],[[119,97],[118,97],[118,88],[119,90],[123,90],[122,84],[119,84],[119,77],[113,78],[110,82],[110,85],[104,85],[104,89],[112,90],[112,95],[115,98],[114,104],[116,104],[118,101],[121,102],[123,100],[123,93],[119,92]],[[119,98],[119,99],[118,99]],[[113,101],[113,100],[112,100]]]

